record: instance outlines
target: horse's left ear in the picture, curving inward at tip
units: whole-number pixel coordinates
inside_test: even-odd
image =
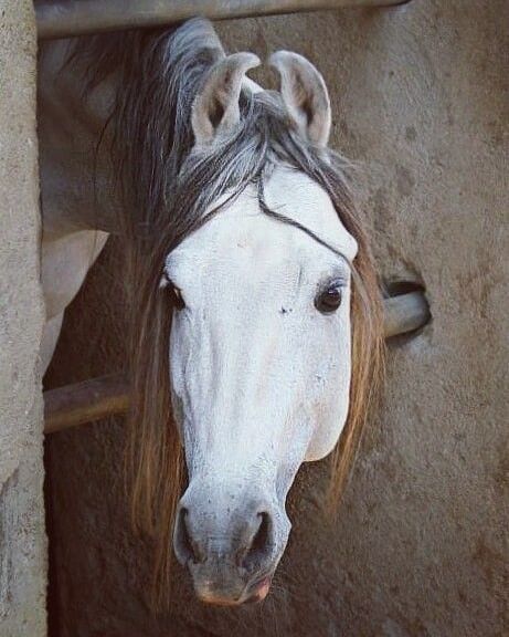
[[[218,62],[194,98],[191,125],[197,145],[227,136],[238,124],[242,81],[259,65],[254,53],[234,53]]]

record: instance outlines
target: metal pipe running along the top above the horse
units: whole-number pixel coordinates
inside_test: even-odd
[[[202,15],[230,20],[342,7],[390,7],[405,0],[60,0],[35,3],[41,40],[162,27]]]

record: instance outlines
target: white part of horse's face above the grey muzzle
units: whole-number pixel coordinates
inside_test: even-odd
[[[327,238],[351,261],[354,239],[327,194],[278,167],[268,206]],[[171,335],[172,386],[185,415],[191,478],[258,467],[284,498],[303,460],[335,446],[348,410],[350,272],[305,232],[258,208],[254,189],[183,241],[166,272],[181,291]],[[322,315],[320,284],[346,282]],[[283,472],[284,476],[279,476]]]

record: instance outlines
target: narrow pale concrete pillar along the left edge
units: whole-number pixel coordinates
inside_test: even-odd
[[[35,23],[0,0],[0,635],[45,635]]]

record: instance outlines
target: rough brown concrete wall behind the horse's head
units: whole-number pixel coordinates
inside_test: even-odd
[[[380,270],[422,280],[433,323],[390,345],[383,405],[337,523],[318,504],[327,463],[299,474],[290,544],[261,607],[201,607],[179,571],[170,613],[151,618],[121,420],[54,436],[52,634],[508,634],[505,14],[503,0],[413,0],[220,25],[231,50],[296,50],[322,70],[333,145],[364,167]],[[109,244],[71,309],[51,384],[121,368],[120,250]]]

